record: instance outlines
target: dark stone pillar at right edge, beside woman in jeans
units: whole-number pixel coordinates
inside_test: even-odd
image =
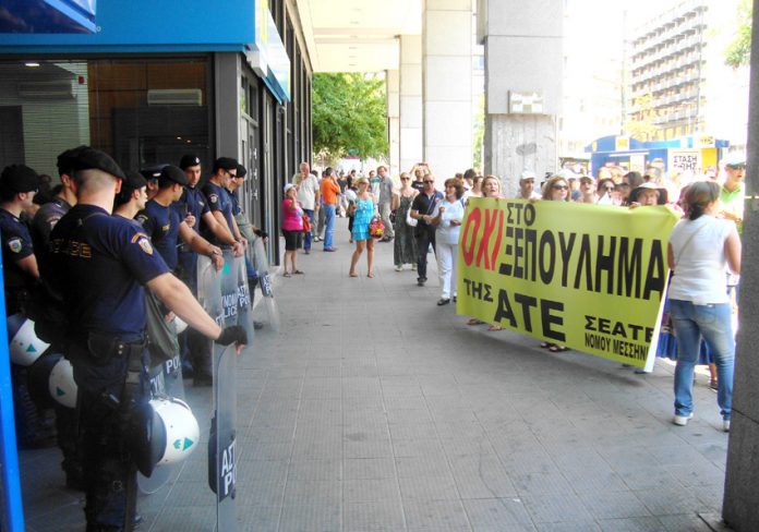
[[[759,1],[754,2],[748,168],[740,273],[740,325],[722,517],[735,532],[759,530]]]

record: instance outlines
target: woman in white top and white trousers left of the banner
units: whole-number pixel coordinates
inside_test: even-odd
[[[430,223],[435,226],[435,254],[437,255],[437,276],[441,280],[441,299],[437,305],[456,300],[456,263],[458,258],[458,235],[463,219],[463,184],[458,179],[445,182],[445,198],[432,213]]]

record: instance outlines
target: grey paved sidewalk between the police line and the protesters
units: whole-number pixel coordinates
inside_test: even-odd
[[[649,375],[535,339],[468,327],[438,307],[436,268],[348,277],[315,243],[278,278],[278,336],[239,361],[241,531],[708,531],[727,435],[699,376],[696,418],[671,424],[672,366]],[[430,255],[434,262],[434,255]],[[186,384],[190,382],[188,380]],[[207,439],[210,389],[188,389]],[[28,531],[84,530],[56,450],[22,454]],[[210,531],[205,445],[178,481],[140,499],[142,531]]]

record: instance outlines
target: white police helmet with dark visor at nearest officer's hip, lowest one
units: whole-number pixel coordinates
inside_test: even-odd
[[[201,437],[192,410],[174,397],[156,397],[135,407],[130,422],[132,459],[145,476],[150,476],[156,466],[184,460]]]

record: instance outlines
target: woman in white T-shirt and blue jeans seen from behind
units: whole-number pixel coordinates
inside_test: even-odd
[[[712,352],[719,376],[716,402],[722,428],[730,431],[735,339],[725,269],[740,273],[740,239],[735,223],[715,218],[720,185],[699,181],[688,186],[685,216],[672,230],[667,262],[673,270],[667,297],[677,337],[675,425],[694,416],[694,367],[701,337]]]

